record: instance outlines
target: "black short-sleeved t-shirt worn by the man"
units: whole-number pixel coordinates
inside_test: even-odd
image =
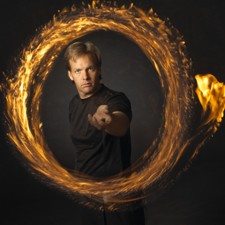
[[[88,122],[100,105],[108,105],[110,112],[121,111],[132,119],[131,104],[122,92],[104,85],[93,96],[80,99],[76,95],[69,105],[71,138],[75,147],[75,169],[87,175],[107,177],[130,165],[130,130],[122,137],[97,130]]]

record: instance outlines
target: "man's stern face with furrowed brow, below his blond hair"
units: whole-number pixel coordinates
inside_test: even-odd
[[[96,67],[91,55],[86,54],[70,60],[69,78],[74,81],[81,99],[92,96],[100,87],[100,69]]]

